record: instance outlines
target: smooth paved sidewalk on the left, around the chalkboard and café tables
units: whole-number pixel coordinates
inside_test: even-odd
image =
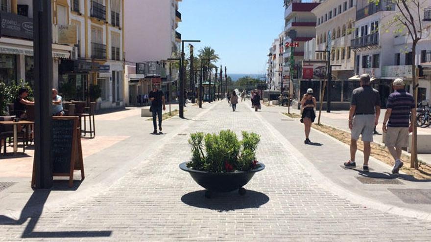
[[[209,107],[211,104],[207,103],[203,105],[203,109],[187,105],[184,116],[194,118]],[[172,105],[172,111],[177,109],[178,105]],[[168,107],[164,113],[167,112]],[[85,180],[81,183],[80,173],[75,172],[75,186],[68,188],[66,181],[59,182],[56,178],[45,201],[46,208],[89,198],[106,190],[135,167],[143,157],[152,154],[160,142],[171,139],[188,123],[178,116],[172,117],[163,121],[163,135],[153,135],[152,121],[148,119],[149,117],[141,117],[140,108],[131,107],[96,115],[96,137],[81,139]],[[12,147],[7,150],[12,152]],[[21,148],[18,149],[18,152],[21,151]],[[0,215],[14,219],[20,217],[20,212],[33,194],[30,182],[34,150],[29,147],[25,153],[0,156]],[[37,206],[37,203],[33,205]]]

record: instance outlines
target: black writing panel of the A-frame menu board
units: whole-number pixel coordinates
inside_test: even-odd
[[[51,161],[52,173],[70,174],[73,138],[75,136],[73,119],[52,120]]]

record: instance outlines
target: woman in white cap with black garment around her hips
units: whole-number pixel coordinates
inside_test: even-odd
[[[311,124],[314,122],[316,118],[316,113],[314,112],[314,108],[316,107],[316,98],[313,97],[313,89],[308,88],[307,93],[304,94],[301,101],[301,122],[304,123],[305,129],[305,144],[310,144],[311,141],[309,139]]]

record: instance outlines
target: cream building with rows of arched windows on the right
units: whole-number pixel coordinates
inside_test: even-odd
[[[316,50],[329,47],[331,65],[340,65],[332,68],[333,78],[345,80],[352,77],[355,59],[350,44],[354,38],[356,0],[325,0],[311,12],[317,17]],[[328,34],[331,34],[329,38]],[[326,60],[326,53],[316,53],[312,59]]]

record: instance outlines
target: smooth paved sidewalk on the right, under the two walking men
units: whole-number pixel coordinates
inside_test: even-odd
[[[292,109],[290,111],[296,112]],[[363,155],[360,151],[357,152],[356,158],[358,169],[346,169],[343,167],[343,163],[350,156],[348,145],[314,129],[311,129],[310,139],[316,145],[305,145],[304,125],[299,122],[299,119],[292,119],[281,112],[287,112],[287,107],[262,106],[261,115],[288,140],[289,145],[310,160],[310,165],[321,173],[324,179],[331,180],[335,186],[345,189],[347,193],[380,203],[382,209],[385,207],[385,210],[406,211],[406,215],[416,212],[422,215],[431,214],[431,190],[429,189],[431,180],[416,180],[402,174],[392,175],[390,166],[373,157],[370,157],[369,161],[371,172],[362,173]],[[322,123],[325,123],[323,121],[326,120],[336,122],[335,118],[330,119],[326,115],[325,117],[322,115]],[[344,118],[339,120],[344,122]],[[338,121],[338,123],[341,122]],[[418,191],[430,195],[425,198]],[[419,214],[418,216],[420,216]]]

